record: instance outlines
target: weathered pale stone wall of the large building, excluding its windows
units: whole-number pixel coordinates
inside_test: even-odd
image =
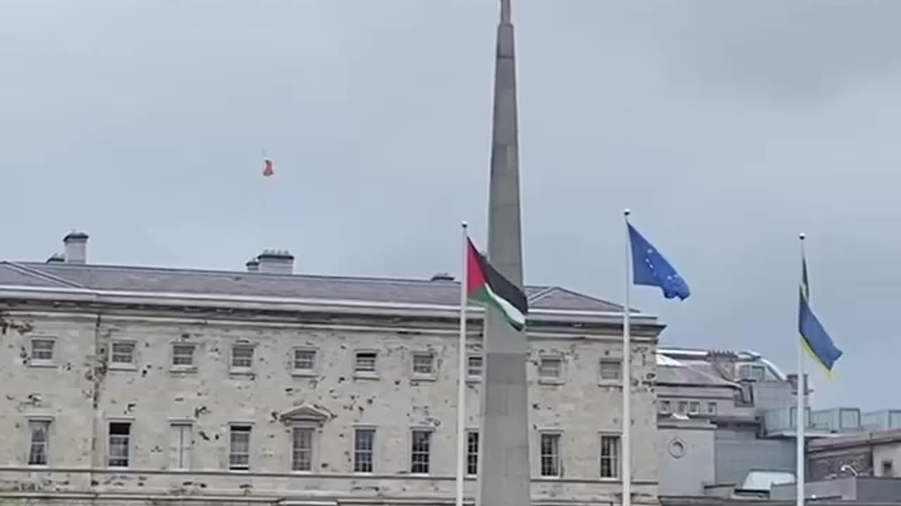
[[[0,343],[0,492],[141,492],[168,496],[271,494],[432,497],[452,499],[455,472],[457,335],[453,330],[397,332],[377,328],[305,326],[296,322],[201,321],[148,315],[5,312]],[[478,329],[470,348],[478,352]],[[57,339],[55,366],[29,365],[29,339]],[[136,344],[133,368],[111,367],[115,340]],[[621,357],[619,336],[532,337],[532,493],[536,500],[618,501],[621,484],[599,479],[599,433],[621,430],[621,390],[598,382],[601,357]],[[232,374],[232,343],[255,345],[252,374]],[[170,370],[170,346],[198,346],[196,371]],[[653,374],[650,340],[633,341],[633,490],[656,497]],[[319,350],[314,377],[290,371],[293,347]],[[355,378],[353,351],[378,349],[378,379]],[[431,349],[431,381],[411,375],[414,351]],[[564,381],[542,384],[542,354],[565,358]],[[468,384],[468,425],[478,427],[480,384]],[[290,472],[289,429],[279,415],[300,405],[329,415],[318,429],[314,472]],[[50,417],[50,466],[26,466],[28,417]],[[108,420],[133,423],[128,470],[105,469]],[[194,423],[191,471],[168,471],[168,424]],[[228,424],[252,424],[250,472],[229,472]],[[355,424],[378,427],[375,472],[352,474]],[[409,474],[409,435],[432,427],[432,470]],[[563,476],[539,476],[538,434],[562,431]],[[93,447],[93,451],[92,451]],[[467,483],[474,490],[475,482]]]

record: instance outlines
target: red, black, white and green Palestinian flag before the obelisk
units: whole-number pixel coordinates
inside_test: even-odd
[[[487,258],[469,242],[466,261],[467,296],[489,306],[494,306],[516,330],[525,328],[525,314],[529,303],[525,293],[509,279],[491,267]]]

